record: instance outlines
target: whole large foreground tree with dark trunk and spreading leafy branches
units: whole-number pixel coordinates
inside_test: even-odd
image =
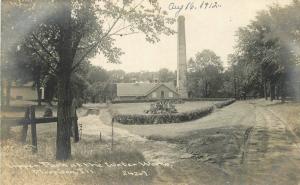
[[[12,1],[3,3],[11,4]],[[72,73],[99,51],[109,62],[119,62],[122,51],[115,46],[116,36],[142,32],[148,42],[155,43],[159,41],[159,35],[174,33],[168,25],[175,20],[167,18],[166,12],[152,0],[32,0],[30,3],[14,3],[11,6],[28,10],[25,12],[29,14],[27,24],[21,29],[26,33],[23,43],[48,64],[57,78],[56,159],[69,159]],[[21,21],[24,16],[19,19]]]

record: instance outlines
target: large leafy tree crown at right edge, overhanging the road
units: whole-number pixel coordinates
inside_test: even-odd
[[[270,96],[270,100],[280,94],[284,100],[287,74],[299,56],[300,25],[299,16],[296,16],[299,11],[298,1],[286,7],[275,5],[238,30],[235,56],[246,76],[243,84],[246,91],[255,90],[266,99]]]

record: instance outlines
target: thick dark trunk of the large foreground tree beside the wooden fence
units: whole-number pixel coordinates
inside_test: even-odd
[[[58,107],[57,107],[57,138],[56,159],[67,160],[71,157],[71,73],[72,73],[72,28],[71,1],[61,1],[60,43],[58,49]]]

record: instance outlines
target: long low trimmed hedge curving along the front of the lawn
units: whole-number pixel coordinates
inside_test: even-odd
[[[164,124],[192,121],[208,115],[214,107],[175,114],[119,114],[114,117],[115,121],[122,124]]]

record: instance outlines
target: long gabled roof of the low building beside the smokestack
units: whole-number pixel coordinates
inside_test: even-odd
[[[172,83],[117,83],[117,96],[147,96],[162,85],[177,93]]]

